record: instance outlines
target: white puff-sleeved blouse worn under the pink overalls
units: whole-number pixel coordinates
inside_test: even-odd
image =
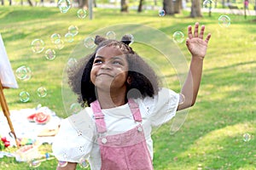
[[[135,99],[143,118],[143,130],[148,150],[153,159],[152,127],[159,127],[175,116],[179,94],[168,88],[160,88],[154,98]],[[124,133],[137,126],[128,104],[102,109],[108,129],[107,135]],[[100,149],[96,142],[96,124],[90,107],[61,121],[59,132],[52,144],[53,154],[59,161],[78,162],[89,159],[90,169],[101,169]]]

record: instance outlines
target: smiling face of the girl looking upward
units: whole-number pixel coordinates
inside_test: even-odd
[[[128,62],[119,48],[102,47],[93,61],[90,81],[97,89],[126,92]]]

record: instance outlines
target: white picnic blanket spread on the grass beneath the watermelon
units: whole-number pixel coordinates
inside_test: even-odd
[[[10,120],[15,129],[18,139],[32,139],[39,143],[52,144],[55,134],[58,132],[61,118],[55,115],[48,107],[37,107],[33,109],[13,110],[10,112]],[[32,122],[28,119],[32,114],[43,112],[49,115],[49,121],[46,123]],[[0,136],[6,137],[10,145],[16,145],[15,139],[9,135],[10,129],[3,111],[0,111]]]

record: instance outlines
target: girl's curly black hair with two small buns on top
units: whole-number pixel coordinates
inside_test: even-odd
[[[96,36],[96,50],[92,54],[78,60],[77,65],[67,70],[68,84],[75,94],[78,94],[78,102],[84,107],[96,100],[95,85],[90,82],[90,71],[96,52],[99,48],[117,47],[128,61],[128,76],[131,81],[126,83],[126,98],[154,97],[159,91],[160,79],[154,70],[129,46],[131,36],[125,35],[121,41],[106,39]],[[135,90],[134,90],[135,89]],[[134,92],[139,91],[139,93]]]

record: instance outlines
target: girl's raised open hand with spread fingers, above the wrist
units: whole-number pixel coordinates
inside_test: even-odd
[[[195,23],[195,30],[194,34],[192,33],[192,26],[188,27],[188,38],[186,40],[186,45],[189,49],[190,54],[192,57],[199,57],[204,59],[205,55],[207,54],[207,45],[210,40],[211,34],[207,35],[207,38],[203,40],[205,26],[201,26],[201,31],[198,34],[199,23]]]

